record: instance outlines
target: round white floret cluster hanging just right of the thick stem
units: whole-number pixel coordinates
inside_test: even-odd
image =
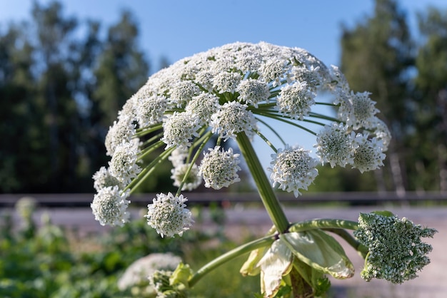
[[[286,147],[273,154],[271,161],[271,181],[273,187],[279,185],[282,190],[292,192],[295,197],[301,195],[299,190],[307,190],[318,175],[318,160],[311,158],[308,150]]]

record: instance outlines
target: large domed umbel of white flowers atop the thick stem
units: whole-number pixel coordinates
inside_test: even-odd
[[[333,101],[319,101],[321,93],[330,93]],[[369,96],[351,91],[336,66],[325,66],[301,48],[230,43],[181,59],[149,77],[111,125],[105,142],[109,167],[94,175],[96,220],[123,225],[130,193],[171,160],[179,192],[157,195],[146,217],[161,235],[181,235],[192,222],[181,190],[202,181],[214,189],[238,182],[238,150],[223,142],[241,134],[270,146],[271,184],[296,197],[316,178],[319,163],[375,170],[383,165],[391,136]],[[321,114],[316,109],[321,105],[336,112]],[[306,130],[315,138],[318,159],[309,155],[310,148],[284,143],[274,121]],[[272,130],[279,144],[262,130]],[[148,163],[146,156],[161,147],[164,152]]]

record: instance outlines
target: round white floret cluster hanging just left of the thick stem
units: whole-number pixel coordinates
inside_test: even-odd
[[[220,190],[240,181],[237,173],[241,170],[238,156],[233,153],[233,148],[228,148],[227,151],[220,150],[220,146],[209,148],[209,153],[205,153],[199,166],[199,175],[204,178],[205,187]]]

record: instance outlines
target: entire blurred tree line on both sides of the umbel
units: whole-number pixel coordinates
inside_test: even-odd
[[[1,24],[0,192],[93,191],[109,125],[151,70],[129,11],[103,29],[57,1]],[[398,1],[376,0],[341,30],[341,71],[372,93],[393,141],[381,170],[321,168],[311,190],[447,191],[447,10],[421,11],[413,32]]]

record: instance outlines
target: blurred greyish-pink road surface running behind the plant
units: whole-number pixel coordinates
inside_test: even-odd
[[[426,242],[433,246],[430,253],[431,264],[420,272],[417,279],[413,279],[402,285],[393,285],[381,280],[364,282],[359,276],[363,267],[363,260],[356,252],[344,245],[346,254],[350,257],[356,268],[356,274],[348,280],[331,280],[337,289],[338,297],[405,297],[405,298],[443,298],[447,297],[447,207],[346,207],[346,208],[317,208],[303,207],[285,208],[286,215],[291,222],[311,220],[315,218],[339,218],[357,220],[360,212],[387,209],[399,217],[407,217],[417,224],[432,227],[438,230],[433,239]],[[0,210],[1,211],[1,210]],[[36,212],[36,220],[42,212],[47,212],[56,225],[76,227],[81,232],[107,232],[110,227],[102,227],[94,220],[89,208],[51,208]],[[134,217],[142,216],[144,210],[131,210]],[[257,208],[245,208],[243,205],[233,205],[225,209],[225,231],[229,237],[238,240],[244,235],[263,235],[270,227],[271,221],[265,210]],[[201,214],[203,222],[197,222],[195,229],[208,229],[210,232],[217,227],[210,220],[208,210]]]

